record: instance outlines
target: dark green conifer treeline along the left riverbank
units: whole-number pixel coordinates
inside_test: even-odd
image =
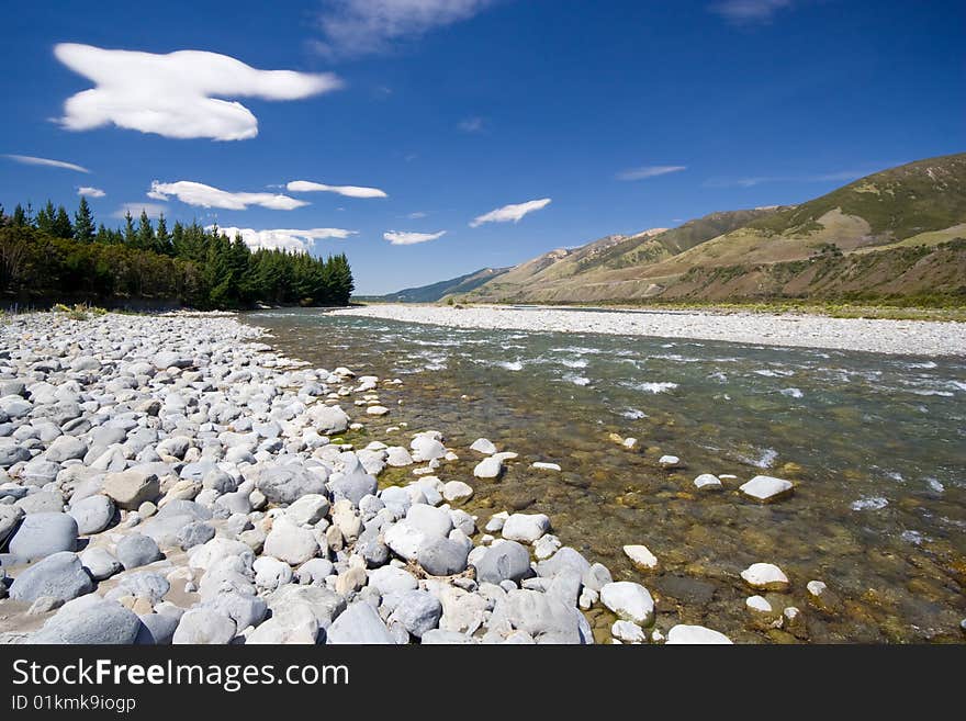
[[[0,206],[0,289],[9,298],[175,301],[201,309],[347,305],[352,271],[345,254],[315,258],[251,250],[217,226],[153,224],[128,212],[121,228],[96,226],[87,199],[71,219],[61,205],[32,212]]]

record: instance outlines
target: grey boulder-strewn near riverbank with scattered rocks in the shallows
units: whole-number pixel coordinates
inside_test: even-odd
[[[401,382],[308,368],[260,335],[228,317],[3,320],[0,642],[729,642],[659,628],[643,585],[562,545],[543,514],[462,510],[523,460],[512,449],[400,426],[383,428],[405,443],[341,442]],[[473,475],[442,483],[460,455]],[[743,577],[750,594],[789,586],[765,559]],[[802,628],[797,608],[748,602],[756,623]]]

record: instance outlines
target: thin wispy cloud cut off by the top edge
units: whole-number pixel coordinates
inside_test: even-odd
[[[381,53],[393,41],[419,37],[434,27],[468,20],[494,0],[327,0],[318,23],[326,56]]]

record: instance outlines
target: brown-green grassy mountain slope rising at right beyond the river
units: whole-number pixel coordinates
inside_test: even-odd
[[[966,154],[884,170],[798,205],[711,213],[677,228],[552,250],[461,297],[956,295],[966,293],[966,241],[957,238],[966,238]]]

